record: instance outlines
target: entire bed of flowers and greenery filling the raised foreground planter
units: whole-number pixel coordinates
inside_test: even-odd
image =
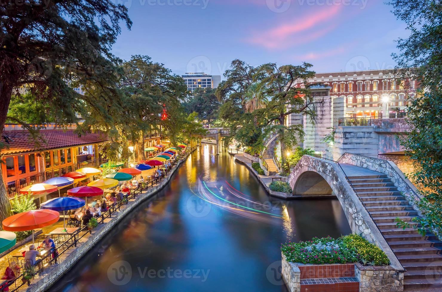
[[[289,262],[335,264],[361,262],[364,265],[388,265],[387,255],[376,245],[356,234],[333,239],[313,238],[299,243],[284,243],[281,251]]]

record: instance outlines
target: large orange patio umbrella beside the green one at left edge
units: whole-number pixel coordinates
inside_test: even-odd
[[[3,220],[3,230],[27,231],[32,230],[32,244],[34,244],[34,229],[51,225],[58,221],[60,213],[54,210],[30,210],[12,215]]]

